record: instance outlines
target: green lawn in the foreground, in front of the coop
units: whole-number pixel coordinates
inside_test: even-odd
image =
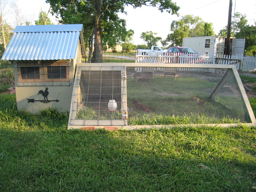
[[[17,112],[15,96],[0,95],[1,192],[255,191],[255,127],[82,132],[67,123],[55,110]]]

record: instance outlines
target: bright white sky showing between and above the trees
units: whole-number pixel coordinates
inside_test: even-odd
[[[47,12],[50,5],[45,0],[14,0],[18,5],[21,14],[29,16],[31,20],[38,20],[40,9]],[[156,32],[157,36],[165,39],[170,33],[170,24],[173,20],[180,20],[182,16],[191,14],[199,16],[204,22],[213,24],[215,34],[228,24],[229,0],[173,0],[180,10],[179,17],[160,12],[158,8],[142,6],[134,9],[132,6],[125,8],[127,14],[118,14],[120,18],[126,20],[127,30],[134,30],[133,43],[144,44],[140,38],[142,32]],[[254,24],[256,20],[256,1],[255,0],[233,0],[232,15],[234,12],[246,14],[248,24]],[[57,24],[54,16],[50,16],[52,22]],[[15,26],[14,18],[8,18],[8,23]],[[85,28],[86,26],[84,26]],[[161,45],[161,44],[158,44]]]

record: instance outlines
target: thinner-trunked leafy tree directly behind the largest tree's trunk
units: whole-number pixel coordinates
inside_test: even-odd
[[[56,3],[56,4],[54,4]],[[90,5],[92,2],[80,0],[74,1],[64,1],[64,0],[50,0],[50,4],[53,5],[52,9],[53,12],[57,13],[61,16],[61,20],[59,21],[62,24],[83,24],[84,25],[84,42],[87,47],[89,47],[89,57],[88,62],[95,62],[95,54],[92,57],[92,49],[93,49],[93,42],[94,42],[94,34],[95,34],[95,12],[92,6]],[[116,21],[118,20],[118,21]],[[116,44],[113,36],[117,36],[118,34],[125,34],[122,33],[122,27],[125,26],[123,23],[124,20],[120,20],[118,15],[115,12],[106,10],[101,17],[101,25],[104,26],[103,30],[100,32],[102,43],[102,48],[108,46],[113,47]],[[108,25],[108,23],[110,25]],[[119,25],[119,26],[118,26]],[[119,32],[118,32],[119,31]],[[120,32],[122,31],[122,32]],[[104,45],[104,46],[103,46]],[[96,50],[94,49],[94,52]]]

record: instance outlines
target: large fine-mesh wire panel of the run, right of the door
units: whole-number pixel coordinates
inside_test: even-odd
[[[252,122],[232,69],[126,67],[126,73],[128,125]]]

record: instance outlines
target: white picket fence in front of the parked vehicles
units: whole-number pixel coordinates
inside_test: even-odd
[[[187,63],[187,64],[234,64],[242,72],[256,70],[256,57],[236,55],[216,55],[209,57],[198,54],[136,54],[136,63]]]

